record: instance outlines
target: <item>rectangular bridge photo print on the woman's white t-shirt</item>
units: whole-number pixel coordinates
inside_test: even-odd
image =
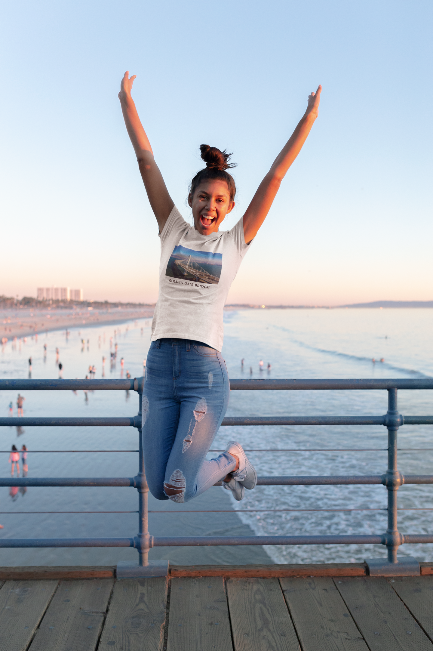
[[[195,283],[218,284],[222,266],[222,253],[193,251],[178,245],[173,249],[165,275]]]

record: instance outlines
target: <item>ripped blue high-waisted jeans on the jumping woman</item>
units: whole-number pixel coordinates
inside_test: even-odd
[[[229,391],[225,362],[214,348],[187,339],[152,341],[141,413],[146,478],[156,499],[188,502],[234,470],[229,452],[206,460]],[[168,497],[165,487],[180,491]]]

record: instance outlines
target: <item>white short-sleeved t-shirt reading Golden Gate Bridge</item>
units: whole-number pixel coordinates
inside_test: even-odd
[[[160,238],[160,291],[150,340],[203,341],[221,352],[223,308],[249,249],[242,218],[230,230],[201,235],[175,206]]]

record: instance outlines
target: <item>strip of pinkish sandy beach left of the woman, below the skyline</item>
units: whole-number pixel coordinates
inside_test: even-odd
[[[31,337],[52,330],[64,330],[79,326],[100,326],[102,324],[119,324],[138,318],[152,318],[153,307],[107,309],[83,307],[83,309],[64,309],[47,307],[29,309],[0,310],[0,339],[14,337]]]

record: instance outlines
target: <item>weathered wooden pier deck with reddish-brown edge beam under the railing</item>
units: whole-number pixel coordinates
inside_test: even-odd
[[[3,651],[433,651],[433,566],[0,568]]]

